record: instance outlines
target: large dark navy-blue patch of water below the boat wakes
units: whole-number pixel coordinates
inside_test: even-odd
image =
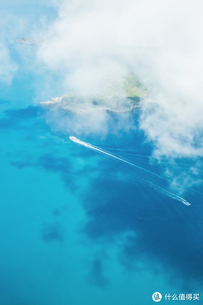
[[[126,267],[133,268],[131,263],[147,255],[166,271],[173,269],[177,278],[202,280],[202,213],[193,206],[152,187],[105,178],[102,183],[91,182],[86,201],[89,221],[84,231],[92,240],[108,243],[122,232],[135,232],[120,252]]]

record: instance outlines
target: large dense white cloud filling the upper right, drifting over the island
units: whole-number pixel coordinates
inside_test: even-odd
[[[38,57],[61,71],[67,91],[99,87],[107,75],[133,70],[153,88],[156,103],[143,105],[140,127],[156,156],[202,155],[202,2],[58,4]]]

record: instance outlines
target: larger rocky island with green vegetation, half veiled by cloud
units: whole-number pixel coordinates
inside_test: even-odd
[[[127,77],[107,78],[102,88],[87,91],[70,91],[61,97],[52,98],[51,101],[41,102],[49,107],[58,107],[74,113],[86,115],[95,110],[108,110],[113,112],[127,112],[140,106],[141,100],[152,100],[149,88],[138,80],[135,74]]]

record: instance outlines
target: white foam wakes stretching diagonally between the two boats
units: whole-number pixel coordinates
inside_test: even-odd
[[[75,137],[69,137],[69,139],[72,140],[73,142],[78,143],[78,144],[80,144],[80,145],[83,145],[83,146],[85,146],[85,147],[87,147],[87,148],[89,148],[89,149],[96,150],[96,151],[98,151],[98,152],[101,152],[102,154],[105,154],[105,155],[107,155],[107,156],[110,156],[110,157],[112,157],[112,158],[115,158],[115,159],[117,159],[117,160],[120,160],[120,161],[125,162],[125,163],[127,163],[127,164],[130,164],[130,165],[132,165],[132,166],[134,166],[134,167],[137,167],[137,168],[139,168],[139,169],[141,169],[141,170],[144,170],[144,171],[146,171],[146,172],[148,172],[148,173],[150,173],[150,174],[156,175],[156,176],[158,176],[159,178],[162,178],[161,176],[159,176],[159,175],[157,175],[157,174],[151,172],[150,170],[146,170],[145,168],[142,168],[142,167],[140,167],[140,166],[138,166],[138,165],[136,165],[136,164],[134,164],[134,163],[128,162],[128,161],[126,161],[126,160],[124,160],[124,159],[121,159],[121,158],[119,158],[119,157],[117,157],[117,156],[114,156],[114,155],[110,154],[109,152],[100,149],[100,148],[97,147],[97,146],[94,146],[94,145],[91,145],[91,144],[89,144],[89,143],[83,142],[83,141],[81,141],[81,140],[79,140],[79,139],[77,139],[77,138],[75,138]],[[147,181],[147,182],[149,182],[151,185],[153,185],[155,188],[157,188],[157,186],[154,185],[152,182],[150,182],[150,181]],[[172,197],[172,198],[174,198],[174,199],[177,199],[178,201],[181,201],[181,202],[184,203],[185,205],[190,206],[190,203],[187,202],[187,201],[186,201],[185,199],[183,199],[182,197],[180,197],[180,196],[178,196],[178,195],[176,195],[176,194],[173,194],[172,192],[167,191],[167,190],[164,189],[164,188],[158,187],[158,189],[159,189],[160,192],[164,193],[165,195],[168,195],[168,196],[170,196],[170,197]]]

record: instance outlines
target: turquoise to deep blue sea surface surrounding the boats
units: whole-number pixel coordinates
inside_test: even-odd
[[[40,89],[46,75],[27,69],[24,47],[35,48],[13,51],[18,73],[0,84],[0,304],[149,305],[154,292],[203,304],[201,160],[153,158],[140,109],[129,130],[114,113],[105,135],[57,128],[77,115],[50,120],[60,110],[39,102],[65,92]]]

